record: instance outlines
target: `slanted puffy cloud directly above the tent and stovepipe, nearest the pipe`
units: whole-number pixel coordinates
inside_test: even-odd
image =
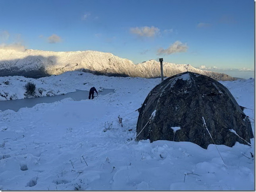
[[[160,48],[157,50],[157,55],[163,55],[163,54],[173,54],[173,53],[180,53],[180,52],[186,52],[188,49],[188,46],[186,43],[181,43],[180,41],[174,42],[170,47],[167,49]]]

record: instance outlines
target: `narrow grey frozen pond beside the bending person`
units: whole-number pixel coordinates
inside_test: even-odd
[[[98,91],[99,95],[105,95],[107,93],[114,93],[114,89],[102,89],[102,91]],[[76,89],[76,92],[70,92],[66,95],[0,101],[0,110],[4,111],[7,109],[11,109],[14,111],[18,111],[20,108],[33,107],[38,103],[53,103],[69,97],[74,99],[75,101],[80,101],[83,99],[88,99],[88,96],[89,91]],[[94,92],[94,96],[97,96],[97,93]]]

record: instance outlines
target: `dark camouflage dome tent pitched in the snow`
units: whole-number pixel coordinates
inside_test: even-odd
[[[253,131],[229,90],[214,79],[184,72],[156,85],[142,104],[136,140],[250,145]],[[214,142],[213,142],[214,141]]]

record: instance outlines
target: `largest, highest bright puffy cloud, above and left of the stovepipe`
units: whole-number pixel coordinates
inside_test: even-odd
[[[156,34],[159,33],[159,29],[157,27],[151,26],[144,26],[144,27],[134,27],[134,28],[130,28],[130,32],[138,35],[138,36],[142,36],[142,37],[153,37],[156,36]]]

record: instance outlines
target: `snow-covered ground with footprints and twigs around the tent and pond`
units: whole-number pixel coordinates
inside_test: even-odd
[[[0,77],[1,100],[24,98],[29,81],[38,96],[93,86],[115,92],[0,111],[1,190],[255,190],[254,138],[252,146],[218,145],[224,162],[215,145],[203,149],[190,142],[134,140],[135,110],[159,78],[78,71],[40,79]],[[254,79],[221,83],[249,108],[245,113],[254,133]]]

